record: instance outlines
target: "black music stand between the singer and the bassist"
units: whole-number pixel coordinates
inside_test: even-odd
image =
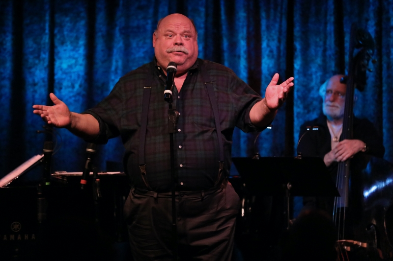
[[[286,197],[286,228],[289,228],[289,196],[339,196],[318,157],[232,158],[247,189],[254,195]]]

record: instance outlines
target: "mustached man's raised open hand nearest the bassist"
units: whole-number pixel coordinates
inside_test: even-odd
[[[270,110],[277,110],[285,101],[289,91],[293,86],[293,77],[290,77],[280,85],[277,85],[279,81],[279,74],[274,74],[272,81],[266,88],[265,99],[266,105]]]

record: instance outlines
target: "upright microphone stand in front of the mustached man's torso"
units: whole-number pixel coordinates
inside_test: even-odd
[[[179,120],[179,112],[172,108],[173,97],[169,95],[168,100],[168,133],[170,146],[170,176],[172,180],[172,239],[173,239],[173,259],[178,260],[177,251],[177,225],[176,225],[176,198],[175,191],[178,176],[175,173],[174,166],[174,149],[173,149],[173,134],[177,132],[177,122]]]

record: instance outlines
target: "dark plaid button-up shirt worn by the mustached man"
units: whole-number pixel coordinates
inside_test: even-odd
[[[200,73],[207,63],[209,80],[214,81],[224,143],[225,174],[231,162],[234,127],[245,132],[258,130],[250,121],[252,106],[261,97],[233,71],[223,65],[197,59],[189,69],[180,93],[174,87],[173,108],[180,113],[174,134],[175,171],[178,190],[202,190],[214,186],[219,169],[218,136],[213,109]],[[121,77],[110,95],[86,111],[98,119],[100,133],[96,143],[121,135],[126,149],[124,163],[134,187],[146,189],[139,169],[140,118],[143,86],[152,77],[145,141],[146,176],[154,191],[170,191],[170,150],[168,102],[164,101],[166,75],[156,60]],[[153,75],[152,75],[153,72]]]

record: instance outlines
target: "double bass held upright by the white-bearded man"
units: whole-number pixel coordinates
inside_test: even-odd
[[[363,91],[365,88],[366,71],[371,71],[367,67],[369,60],[374,54],[374,47],[374,40],[370,33],[362,28],[358,28],[356,24],[352,24],[348,76],[341,79],[342,83],[347,84],[347,90],[340,141],[353,138],[354,91],[355,88],[359,91]],[[356,55],[354,55],[355,50],[358,50]],[[355,215],[358,215],[359,218],[355,218],[357,220],[354,221],[354,211],[348,208],[350,172],[351,160],[339,162],[336,186],[341,197],[335,198],[333,211],[333,221],[338,231],[337,260],[392,260],[393,248],[389,242],[384,224],[386,220],[385,212],[376,212],[372,207],[365,209],[365,193],[357,195],[362,197],[361,199],[356,198],[356,200],[361,201],[361,204],[357,205],[361,206],[362,210],[359,213],[355,212]],[[362,191],[366,190],[362,189]],[[384,200],[390,202],[391,198]],[[385,205],[388,206],[389,204]],[[387,209],[386,206],[383,207],[384,210]],[[351,218],[348,218],[348,210],[352,212]]]

